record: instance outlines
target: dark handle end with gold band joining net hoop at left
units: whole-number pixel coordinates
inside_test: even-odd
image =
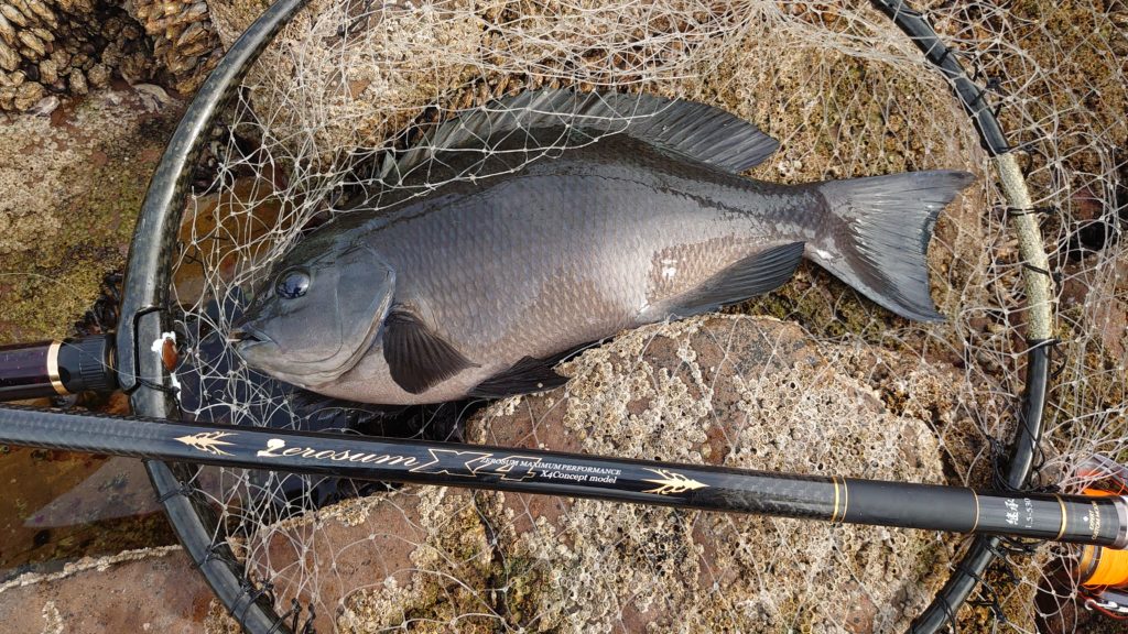
[[[0,346],[0,400],[117,388],[112,340],[105,335]]]

